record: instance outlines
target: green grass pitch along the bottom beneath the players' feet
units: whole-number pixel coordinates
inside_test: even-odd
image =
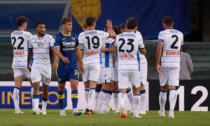
[[[210,126],[210,112],[175,112],[176,119],[160,118],[157,111],[148,111],[142,119],[133,118],[128,114],[122,119],[119,114],[93,114],[62,117],[59,110],[47,110],[47,115],[33,115],[29,109],[24,114],[14,114],[13,109],[0,109],[0,126]]]

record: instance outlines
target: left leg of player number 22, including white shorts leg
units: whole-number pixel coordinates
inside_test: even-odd
[[[19,99],[20,99],[20,89],[22,86],[23,81],[23,73],[20,69],[13,69],[14,71],[14,90],[13,90],[13,98],[14,98],[14,107],[15,107],[15,114],[22,114],[23,112],[20,110],[19,107]]]

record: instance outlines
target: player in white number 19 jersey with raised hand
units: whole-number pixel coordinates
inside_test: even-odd
[[[83,48],[83,62],[85,66],[85,72],[83,74],[83,81],[89,83],[88,102],[86,106],[85,114],[92,114],[90,110],[93,99],[95,97],[96,82],[99,79],[100,74],[100,49],[102,40],[108,37],[115,37],[114,32],[109,34],[104,31],[95,30],[96,18],[88,17],[86,19],[87,30],[79,34],[79,49]],[[107,27],[112,29],[112,24],[108,20]]]

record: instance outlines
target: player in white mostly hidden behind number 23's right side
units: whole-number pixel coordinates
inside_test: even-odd
[[[136,34],[137,36],[139,36],[140,39],[143,39],[139,31],[136,31]],[[147,84],[148,64],[147,64],[147,59],[145,55],[140,53],[139,58],[140,58],[140,73],[141,73],[141,81],[142,81],[142,84],[140,86],[141,101],[140,101],[139,114],[146,114],[146,110],[145,110],[146,91],[145,91],[144,85]]]

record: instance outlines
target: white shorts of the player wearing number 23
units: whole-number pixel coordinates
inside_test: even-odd
[[[140,87],[141,77],[140,72],[118,72],[118,89],[127,89],[130,87],[130,83],[135,88]]]

